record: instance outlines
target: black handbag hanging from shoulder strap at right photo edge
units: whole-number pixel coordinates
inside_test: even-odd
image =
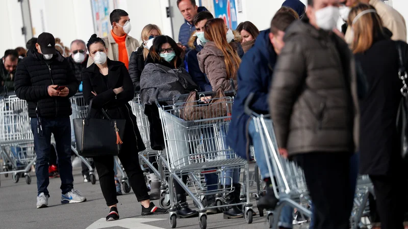
[[[401,94],[402,98],[399,102],[398,113],[397,113],[397,130],[400,134],[400,147],[401,147],[401,157],[404,161],[404,165],[408,165],[408,86],[406,80],[408,79],[408,74],[404,67],[404,60],[402,56],[402,49],[400,44],[397,43],[398,50],[398,61],[399,69],[398,76],[402,81]]]

